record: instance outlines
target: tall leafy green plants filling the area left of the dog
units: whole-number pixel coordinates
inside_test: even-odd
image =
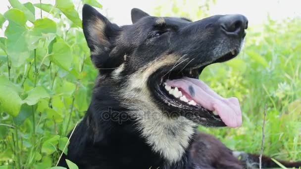
[[[87,110],[96,71],[71,0],[9,2],[0,14],[0,165],[50,168]],[[35,18],[38,10],[47,15]]]

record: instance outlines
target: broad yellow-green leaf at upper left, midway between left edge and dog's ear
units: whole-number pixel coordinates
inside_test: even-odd
[[[42,34],[47,33],[56,33],[56,23],[51,19],[37,19],[34,22],[34,29],[32,30],[33,34],[36,36],[41,36]]]

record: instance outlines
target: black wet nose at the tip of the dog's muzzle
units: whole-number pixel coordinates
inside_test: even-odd
[[[227,35],[236,35],[239,38],[246,36],[245,29],[248,28],[248,19],[244,15],[225,15],[219,20],[221,29]]]

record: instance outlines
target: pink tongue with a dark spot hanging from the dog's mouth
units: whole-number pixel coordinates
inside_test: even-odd
[[[242,112],[236,97],[223,98],[200,80],[184,77],[166,83],[181,88],[202,107],[217,112],[228,127],[242,125]]]

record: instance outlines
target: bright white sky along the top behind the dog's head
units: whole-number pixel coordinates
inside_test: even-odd
[[[22,3],[39,3],[39,0],[20,0]],[[78,0],[75,0],[78,1]],[[103,9],[102,14],[109,16],[118,25],[131,24],[130,11],[133,7],[153,13],[160,0],[98,0]],[[42,3],[55,3],[55,0],[42,0]],[[216,0],[211,6],[210,15],[240,13],[248,17],[250,25],[262,23],[267,14],[272,19],[301,17],[301,0]],[[77,2],[75,2],[77,4]],[[8,0],[0,0],[0,13],[4,13],[9,5]],[[40,13],[37,12],[37,16]],[[3,35],[0,30],[0,35]]]

